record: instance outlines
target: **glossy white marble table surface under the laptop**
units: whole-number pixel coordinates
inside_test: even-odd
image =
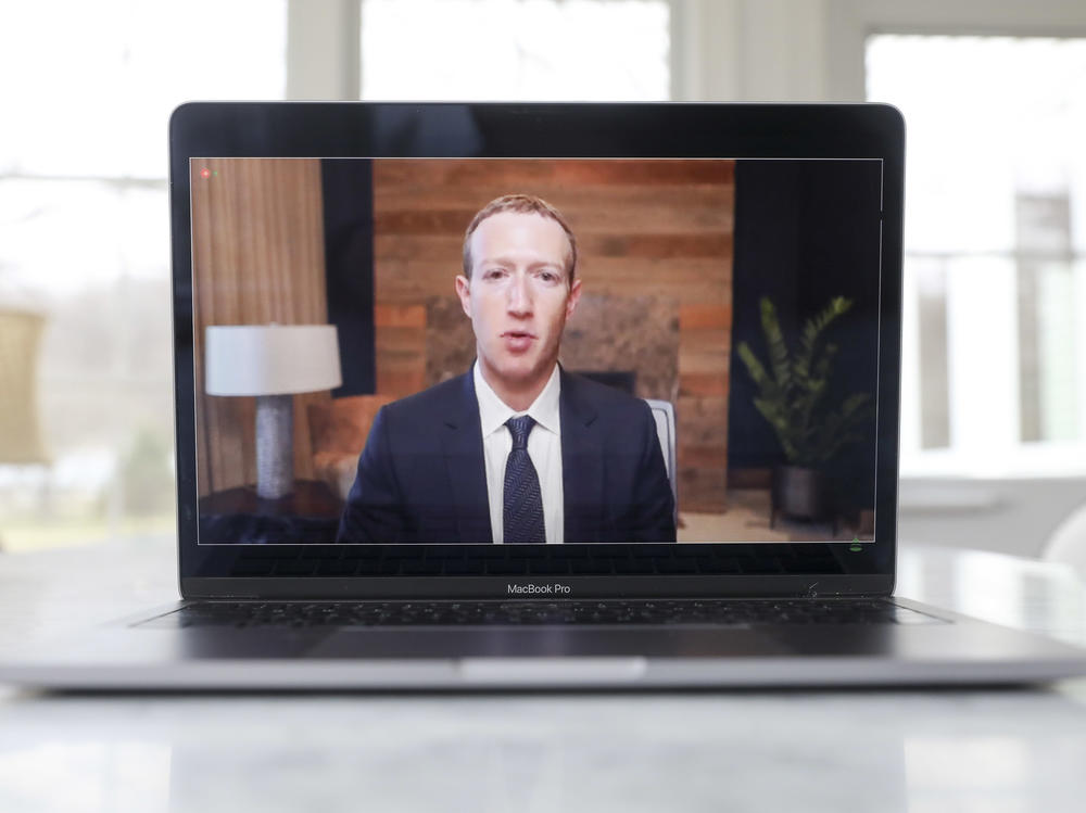
[[[174,600],[175,585],[163,539],[0,556],[0,658]],[[905,548],[898,594],[1086,645],[1086,590],[1061,566]],[[1082,811],[1086,681],[551,695],[0,687],[0,812],[39,810]]]

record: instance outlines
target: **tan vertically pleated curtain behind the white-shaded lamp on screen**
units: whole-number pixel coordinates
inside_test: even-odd
[[[202,178],[200,170],[217,173]],[[325,293],[320,162],[218,158],[193,163],[192,266],[197,462],[201,496],[256,482],[255,398],[203,391],[209,325],[320,325]],[[313,477],[306,405],[294,396],[294,477]]]

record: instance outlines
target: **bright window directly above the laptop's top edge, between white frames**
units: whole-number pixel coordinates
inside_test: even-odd
[[[666,100],[669,21],[666,0],[363,0],[362,98]]]

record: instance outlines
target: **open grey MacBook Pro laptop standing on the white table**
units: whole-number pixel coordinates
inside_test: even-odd
[[[84,688],[982,684],[893,596],[905,126],[875,104],[191,103],[181,600]]]

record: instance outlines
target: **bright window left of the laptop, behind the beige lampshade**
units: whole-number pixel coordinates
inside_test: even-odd
[[[282,98],[286,25],[286,0],[0,11],[0,312],[43,317],[21,397],[49,460],[0,455],[4,549],[172,530],[166,125]]]

